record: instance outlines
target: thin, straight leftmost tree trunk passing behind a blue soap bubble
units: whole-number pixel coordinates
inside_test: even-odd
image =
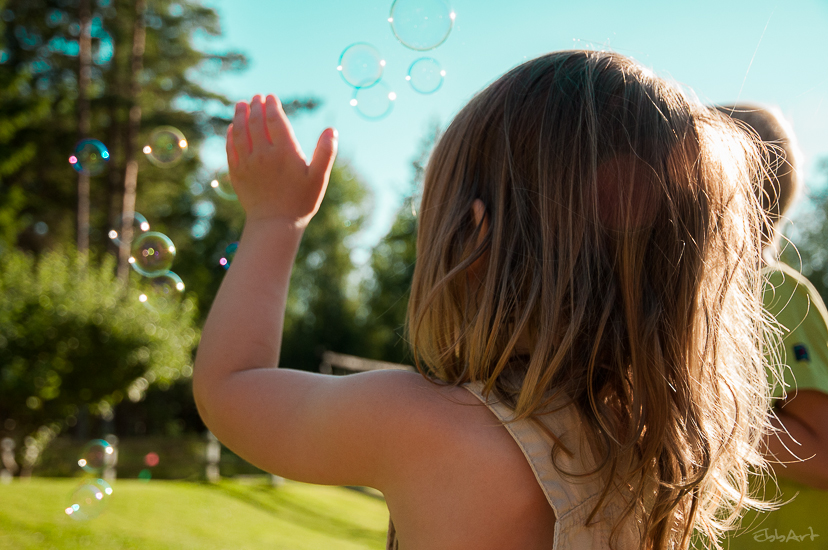
[[[80,69],[78,75],[78,134],[79,139],[89,135],[89,81],[92,75],[92,14],[90,0],[80,0]],[[89,250],[89,171],[78,173],[78,252]]]

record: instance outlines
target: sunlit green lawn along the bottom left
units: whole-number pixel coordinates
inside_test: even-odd
[[[385,548],[384,500],[343,487],[265,478],[219,484],[119,480],[103,514],[64,513],[79,479],[0,485],[0,548],[290,549]]]

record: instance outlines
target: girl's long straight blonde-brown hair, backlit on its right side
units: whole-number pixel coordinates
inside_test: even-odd
[[[418,370],[482,382],[511,421],[566,396],[607,490],[639,480],[627,513],[645,510],[642,547],[685,547],[694,528],[718,546],[762,505],[748,496],[769,393],[760,172],[732,121],[631,59],[516,67],[460,111],[426,170],[407,318]]]

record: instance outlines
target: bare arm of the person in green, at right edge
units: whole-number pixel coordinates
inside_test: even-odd
[[[776,409],[776,416],[772,424],[781,431],[767,438],[776,474],[828,490],[828,395],[801,390]]]

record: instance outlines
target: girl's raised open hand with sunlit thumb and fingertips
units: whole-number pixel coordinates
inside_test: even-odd
[[[237,103],[227,129],[227,163],[248,221],[280,218],[306,226],[325,196],[336,148],[337,132],[328,128],[308,165],[275,96]]]

